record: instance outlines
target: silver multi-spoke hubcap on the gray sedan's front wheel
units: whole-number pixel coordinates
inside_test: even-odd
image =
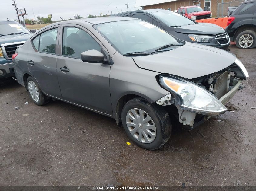
[[[131,109],[126,115],[126,125],[131,135],[142,143],[151,143],[156,137],[153,119],[141,109]]]

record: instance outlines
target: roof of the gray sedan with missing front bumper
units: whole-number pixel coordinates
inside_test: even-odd
[[[115,21],[126,21],[126,20],[138,20],[138,19],[131,18],[131,17],[94,17],[94,18],[82,18],[82,19],[72,19],[72,20],[67,20],[67,21],[60,21],[60,22],[54,23],[52,25],[84,23],[84,22],[91,23],[91,24],[101,24],[101,23],[109,23],[109,22],[115,22]]]

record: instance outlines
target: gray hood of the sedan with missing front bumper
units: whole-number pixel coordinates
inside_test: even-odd
[[[236,57],[225,50],[186,42],[167,52],[133,59],[142,69],[192,79],[218,72],[233,64]]]

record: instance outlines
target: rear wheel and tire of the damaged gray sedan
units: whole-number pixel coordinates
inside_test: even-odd
[[[35,88],[33,88],[34,84],[35,84]],[[30,98],[36,105],[42,106],[49,102],[50,98],[43,94],[43,92],[39,88],[37,81],[32,76],[29,76],[27,79],[27,88],[28,88],[28,94]]]

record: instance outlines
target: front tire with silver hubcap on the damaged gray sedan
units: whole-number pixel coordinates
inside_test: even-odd
[[[138,117],[135,118],[133,113]],[[146,123],[140,121],[139,117],[141,116],[143,116],[144,122],[147,121]],[[170,138],[171,119],[169,114],[161,106],[149,103],[143,98],[134,98],[128,101],[123,107],[121,118],[126,134],[142,148],[149,150],[160,148]]]

